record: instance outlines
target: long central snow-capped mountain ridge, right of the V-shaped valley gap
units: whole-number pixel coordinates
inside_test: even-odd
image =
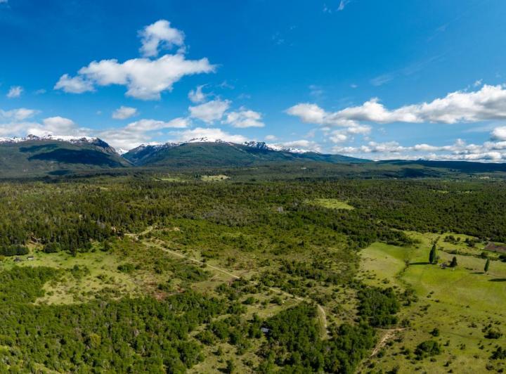
[[[269,146],[263,142],[230,143],[198,138],[183,143],[139,146],[123,155],[136,166],[239,167],[270,162],[362,163],[355,157],[324,155],[297,148]]]

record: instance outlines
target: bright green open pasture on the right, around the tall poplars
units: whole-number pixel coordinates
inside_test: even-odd
[[[409,233],[420,240],[413,247],[375,243],[362,251],[361,276],[372,285],[394,285],[412,289],[418,301],[403,307],[400,320],[410,324],[387,342],[380,354],[364,363],[363,370],[399,373],[483,373],[502,370],[503,361],[491,360],[497,345],[505,347],[504,336],[485,337],[489,328],[506,333],[506,264],[493,261],[484,273],[485,259],[439,251],[439,263],[455,255],[458,266],[442,269],[429,264],[435,234]],[[445,243],[446,244],[446,243]],[[437,330],[434,330],[437,329]],[[441,354],[418,360],[415,349],[426,340],[441,344]]]

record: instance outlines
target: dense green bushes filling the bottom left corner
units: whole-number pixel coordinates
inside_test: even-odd
[[[2,371],[35,370],[40,363],[60,372],[181,372],[202,360],[188,333],[226,311],[226,303],[194,292],[162,302],[145,297],[62,307],[30,304],[54,276],[48,268],[0,273],[0,345],[11,347]]]

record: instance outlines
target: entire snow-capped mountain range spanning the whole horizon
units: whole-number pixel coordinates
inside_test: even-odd
[[[0,176],[63,175],[79,170],[131,167],[247,167],[269,164],[322,163],[326,165],[396,165],[445,168],[457,172],[506,172],[506,164],[391,160],[372,162],[264,142],[231,143],[195,138],[180,143],[147,144],[121,155],[100,138],[34,136],[0,138]]]

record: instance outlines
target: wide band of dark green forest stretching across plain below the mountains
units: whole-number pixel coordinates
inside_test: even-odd
[[[506,188],[497,182],[333,181],[173,183],[152,177],[71,183],[2,183],[0,246],[30,240],[60,250],[87,250],[126,232],[174,219],[228,227],[312,225],[346,235],[351,247],[374,241],[410,244],[401,230],[453,231],[506,241]],[[326,209],[316,198],[348,201]],[[235,245],[247,248],[237,239]]]

